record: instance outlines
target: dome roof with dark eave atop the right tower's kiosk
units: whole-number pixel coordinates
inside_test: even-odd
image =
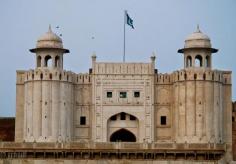
[[[199,26],[197,27],[197,31],[190,34],[185,39],[185,44],[183,49],[179,49],[179,53],[183,53],[187,49],[209,49],[212,53],[217,52],[217,49],[214,49],[211,47],[211,40],[210,38],[202,33],[199,29]]]

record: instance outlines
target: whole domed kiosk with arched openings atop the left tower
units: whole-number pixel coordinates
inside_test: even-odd
[[[63,69],[63,54],[69,50],[63,48],[61,38],[52,32],[49,25],[48,32],[38,39],[36,48],[30,52],[36,53],[36,68]]]

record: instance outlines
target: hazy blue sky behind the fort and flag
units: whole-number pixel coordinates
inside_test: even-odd
[[[177,50],[199,24],[219,49],[213,69],[232,71],[236,100],[235,0],[1,0],[0,117],[15,116],[16,70],[35,68],[29,49],[49,24],[70,50],[64,69],[85,73],[94,52],[97,61],[122,62],[124,10],[134,24],[134,29],[126,26],[127,62],[149,62],[155,52],[160,73],[182,69]]]

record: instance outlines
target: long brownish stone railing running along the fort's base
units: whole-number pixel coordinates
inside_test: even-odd
[[[0,158],[219,160],[225,144],[0,142]]]

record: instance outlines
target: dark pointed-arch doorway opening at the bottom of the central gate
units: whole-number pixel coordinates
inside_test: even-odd
[[[128,130],[120,129],[114,132],[110,137],[111,142],[136,142],[136,137]]]

